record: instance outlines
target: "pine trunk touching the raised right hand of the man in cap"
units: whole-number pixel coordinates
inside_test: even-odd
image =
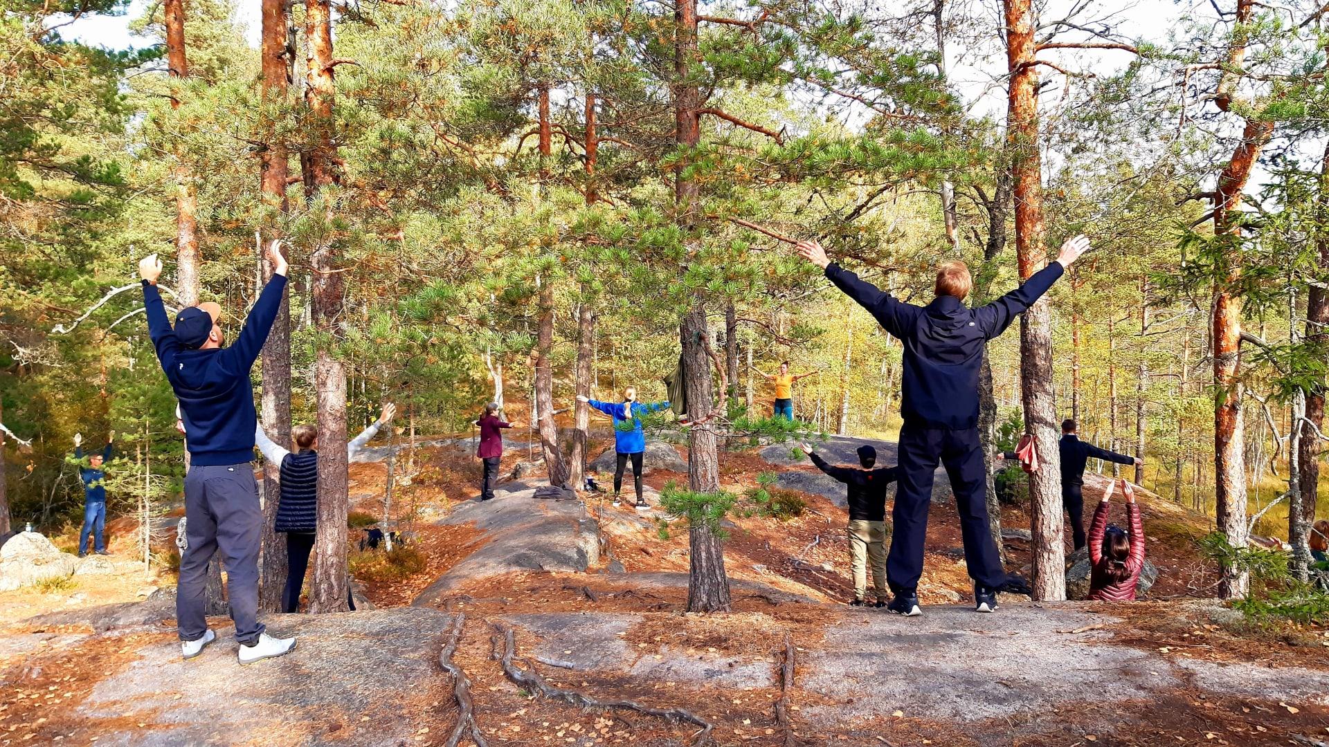
[[[287,0],[263,0],[263,98],[268,106],[286,102],[290,85],[287,78],[284,53],[287,52],[287,35],[291,25],[287,17]],[[267,122],[268,128],[274,122]],[[270,217],[267,235],[262,241],[271,242],[279,234],[275,230],[276,221],[286,215],[286,178],[288,175],[288,153],[286,144],[274,138],[262,152],[259,189],[263,195],[263,205]],[[272,266],[263,259],[263,246],[258,247],[262,262],[263,282],[272,278]],[[290,292],[282,296],[282,306],[272,322],[272,330],[263,344],[262,358],[263,371],[263,397],[262,423],[263,431],[278,444],[290,448],[291,433],[291,306]],[[259,557],[259,609],[263,611],[280,611],[282,590],[286,585],[286,534],[275,532],[276,501],[280,493],[278,469],[280,465],[270,464],[263,469],[263,545]]]

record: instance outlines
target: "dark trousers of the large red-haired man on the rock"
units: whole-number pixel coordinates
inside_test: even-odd
[[[900,429],[900,486],[892,510],[896,528],[886,556],[886,582],[896,593],[918,589],[933,472],[938,460],[946,468],[956,493],[969,577],[995,589],[1006,581],[1006,572],[987,520],[987,476],[978,429],[954,431],[909,423]]]

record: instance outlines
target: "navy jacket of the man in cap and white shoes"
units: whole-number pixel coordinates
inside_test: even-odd
[[[191,464],[217,467],[254,460],[258,415],[250,368],[267,342],[284,292],[286,278],[272,275],[230,347],[191,350],[175,339],[157,286],[144,280],[148,334],[179,400]]]

